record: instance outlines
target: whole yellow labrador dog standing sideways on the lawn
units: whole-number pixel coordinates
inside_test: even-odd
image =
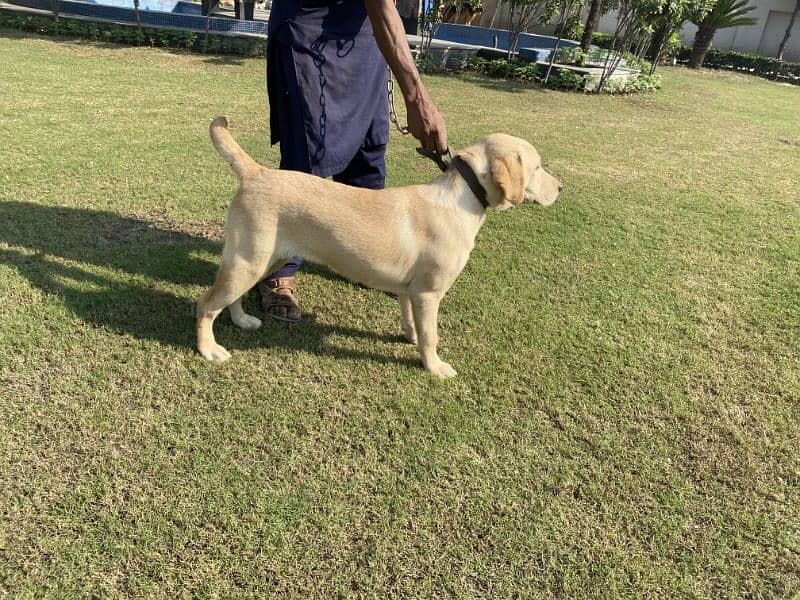
[[[230,353],[214,339],[214,319],[229,307],[233,322],[257,329],[242,295],[292,256],[327,265],[368,287],[397,294],[406,339],[438,377],[456,371],[439,358],[439,302],[453,285],[486,218],[486,208],[523,202],[548,206],[563,185],[524,140],[493,134],[462,150],[431,183],[366,190],[257,164],[211,123],[214,147],[239,177],[225,223],[222,265],[197,303],[197,347],[205,358]]]

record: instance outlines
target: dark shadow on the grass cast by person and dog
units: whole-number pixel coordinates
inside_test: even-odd
[[[185,349],[195,347],[196,295],[214,281],[222,250],[217,225],[174,225],[107,211],[0,199],[0,261],[58,299],[93,327]],[[335,279],[327,269],[314,274]],[[191,286],[193,289],[184,289]],[[250,298],[248,309],[256,313]],[[398,316],[399,328],[399,316]],[[332,335],[400,343],[399,335],[322,324],[306,315],[297,325],[266,323],[240,330],[221,316],[221,343],[282,347],[338,358],[418,366],[411,359],[337,347]]]

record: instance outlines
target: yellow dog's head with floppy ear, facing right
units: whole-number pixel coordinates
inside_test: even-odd
[[[475,172],[489,204],[497,210],[523,202],[550,206],[564,188],[544,170],[536,149],[520,138],[493,133],[458,155]]]

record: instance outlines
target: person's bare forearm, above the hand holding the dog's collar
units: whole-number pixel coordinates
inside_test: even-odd
[[[419,71],[408,47],[403,22],[392,0],[365,0],[367,14],[372,23],[375,41],[406,101],[417,100],[425,88],[420,83]]]

